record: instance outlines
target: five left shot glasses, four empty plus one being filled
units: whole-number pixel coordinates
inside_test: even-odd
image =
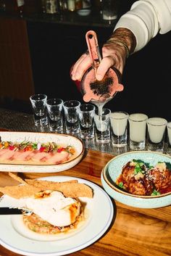
[[[82,139],[94,139],[109,142],[111,111],[103,109],[102,116],[93,104],[81,104],[72,99],[47,99],[45,94],[30,96],[36,126],[48,125],[49,131],[80,136]]]

